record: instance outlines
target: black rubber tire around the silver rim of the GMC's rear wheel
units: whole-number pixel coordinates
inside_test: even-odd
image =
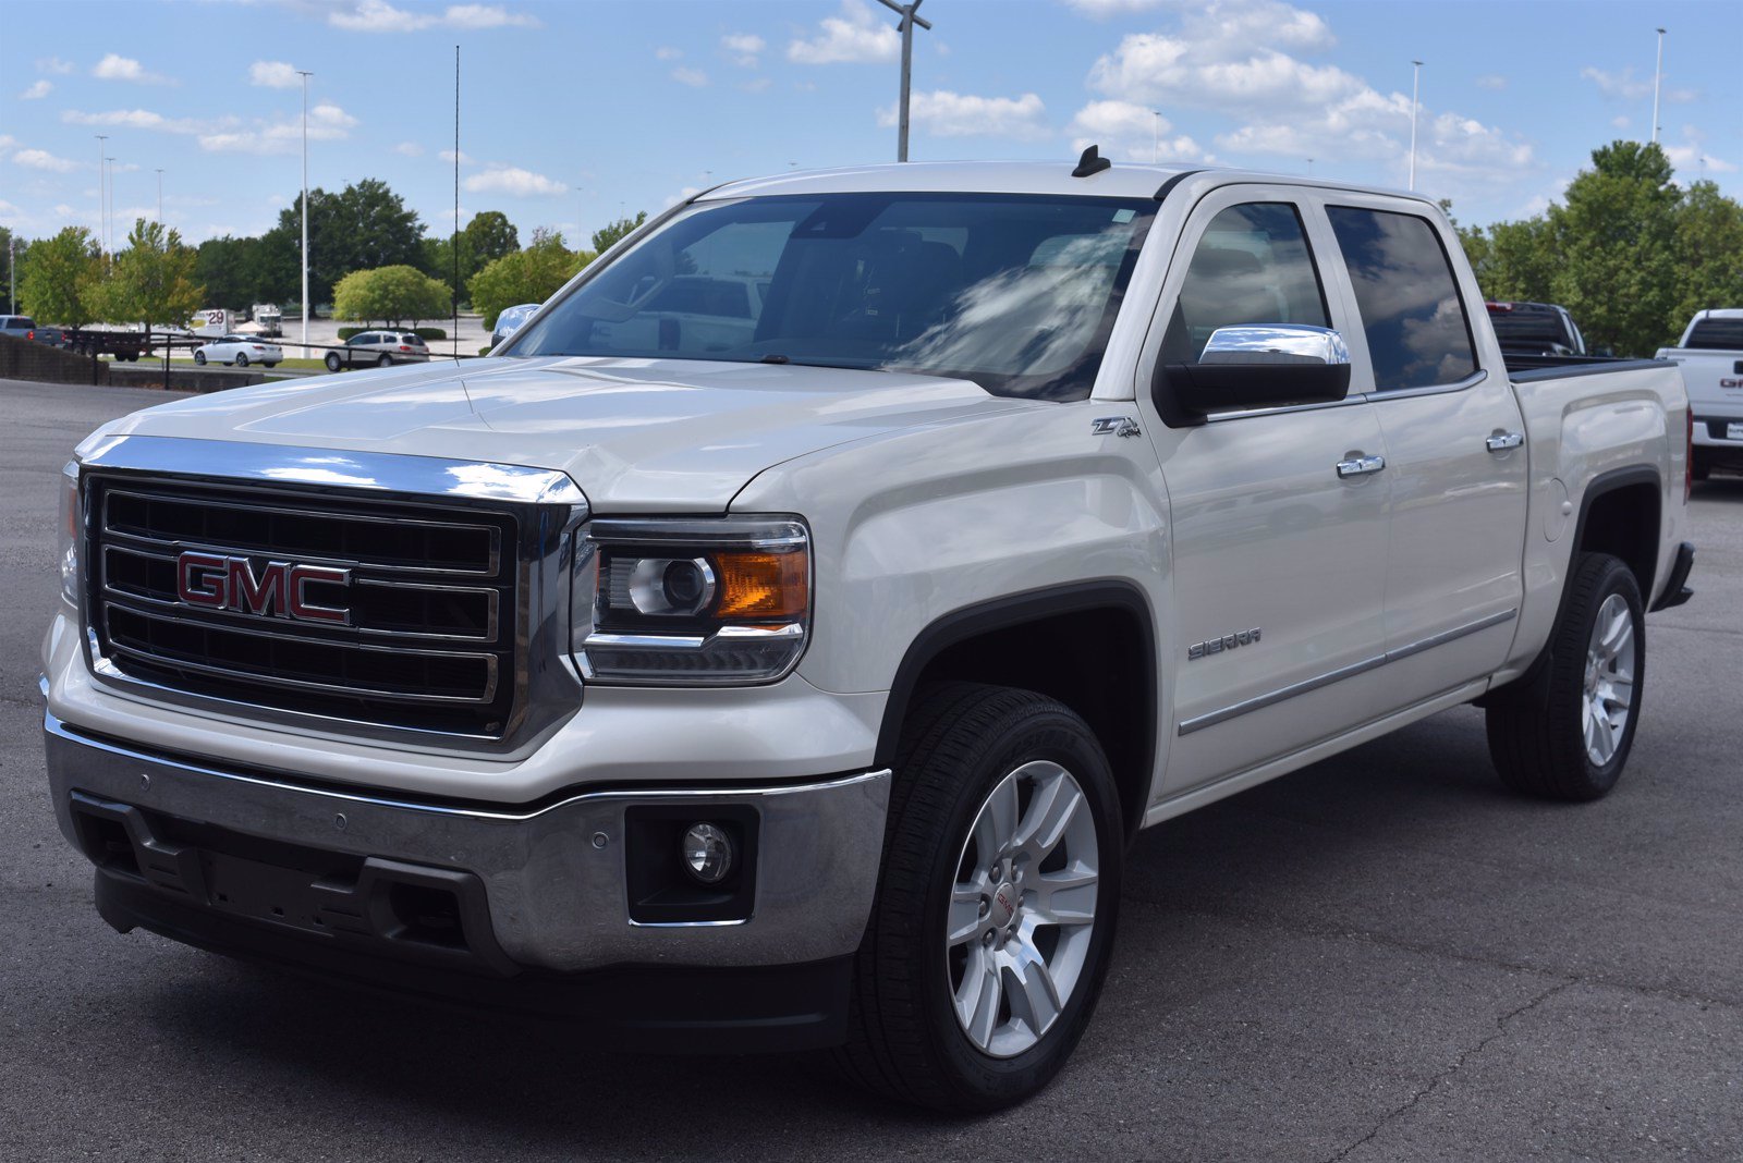
[[[1593,627],[1611,597],[1626,606],[1633,639],[1623,653],[1631,655],[1633,677],[1621,736],[1609,759],[1598,763],[1586,745],[1584,707]],[[1548,672],[1534,691],[1489,705],[1489,754],[1501,780],[1516,792],[1576,803],[1600,799],[1628,763],[1645,691],[1645,609],[1640,585],[1621,559],[1609,554],[1574,559],[1544,665]]]

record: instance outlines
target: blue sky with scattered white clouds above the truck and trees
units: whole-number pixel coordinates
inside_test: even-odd
[[[1593,148],[1659,141],[1743,198],[1736,0],[924,0],[910,157],[1232,165],[1541,212]],[[898,17],[873,0],[7,0],[0,225],[157,216],[254,235],[302,185],[380,178],[446,235],[504,211],[572,245],[732,178],[896,158]],[[38,30],[49,35],[37,35]],[[56,31],[59,30],[59,31]],[[63,35],[66,33],[66,35]],[[96,134],[106,134],[99,143]]]

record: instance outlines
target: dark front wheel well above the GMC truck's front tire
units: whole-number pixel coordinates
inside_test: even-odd
[[[891,689],[878,763],[894,763],[908,703],[929,682],[1037,691],[1075,710],[1095,731],[1114,770],[1129,837],[1143,822],[1156,763],[1156,639],[1149,606],[1133,590],[1121,590],[1121,599],[1105,606],[1053,604],[1051,613],[994,611],[980,625],[969,615],[922,634]],[[988,620],[995,625],[985,625]]]

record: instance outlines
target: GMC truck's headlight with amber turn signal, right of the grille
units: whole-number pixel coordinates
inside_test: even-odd
[[[594,521],[572,585],[586,679],[769,682],[805,653],[810,534],[772,517]]]

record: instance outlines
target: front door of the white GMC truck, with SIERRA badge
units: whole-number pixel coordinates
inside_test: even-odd
[[[1373,409],[1358,393],[1168,428],[1147,390],[1157,362],[1197,362],[1217,327],[1347,327],[1328,254],[1297,188],[1225,186],[1194,207],[1163,284],[1138,407],[1168,487],[1180,635],[1164,796],[1337,735],[1372,705],[1351,679],[1384,651],[1391,482],[1339,465],[1384,463]]]

